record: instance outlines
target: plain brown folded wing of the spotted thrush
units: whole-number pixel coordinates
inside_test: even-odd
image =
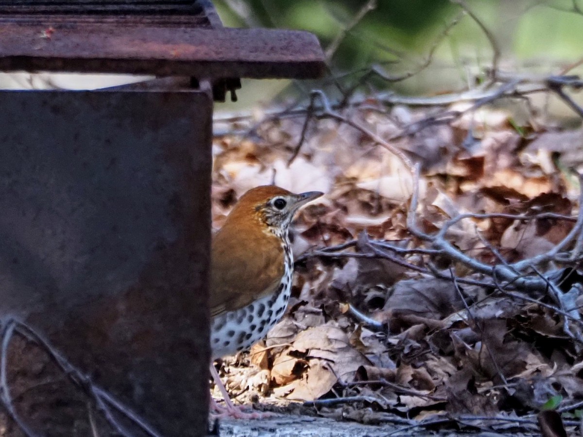
[[[243,308],[270,294],[283,273],[283,249],[275,235],[221,229],[212,244],[210,315]]]

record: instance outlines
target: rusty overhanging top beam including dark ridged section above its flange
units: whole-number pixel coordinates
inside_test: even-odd
[[[311,79],[308,32],[228,29],[210,0],[0,0],[0,71]]]

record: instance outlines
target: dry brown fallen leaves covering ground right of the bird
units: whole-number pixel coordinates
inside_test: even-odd
[[[402,106],[349,112],[385,139],[402,119],[426,115]],[[481,108],[394,142],[422,166],[420,228],[439,232],[451,218],[474,214],[445,238],[491,265],[552,250],[579,208],[578,186],[561,169],[581,167],[581,131],[528,126],[525,138],[509,119]],[[302,119],[282,118],[259,124],[252,136],[215,138],[215,227],[253,186],[326,193],[295,221],[286,315],[250,352],[219,361],[234,399],[367,424],[406,420],[503,433],[537,429],[536,415],[555,396],[558,411],[581,414],[583,348],[566,333],[557,300],[500,292],[464,263],[416,250],[422,245],[407,222],[415,177],[357,129],[312,122],[288,165],[302,129]],[[561,308],[578,319],[582,277],[553,262],[540,274],[549,272],[565,276],[559,299],[568,305]],[[547,416],[539,415],[541,426],[554,426]],[[566,423],[573,431],[577,421]]]

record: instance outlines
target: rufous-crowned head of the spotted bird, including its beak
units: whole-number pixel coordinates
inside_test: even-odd
[[[286,230],[301,206],[323,194],[319,191],[294,194],[275,185],[258,186],[241,196],[229,214],[229,218],[254,217],[259,223],[269,228]]]

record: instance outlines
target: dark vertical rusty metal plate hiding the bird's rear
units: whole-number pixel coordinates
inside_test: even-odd
[[[36,330],[163,436],[206,435],[211,113],[195,91],[0,92],[0,327]],[[85,383],[10,340],[30,429],[118,435]]]

